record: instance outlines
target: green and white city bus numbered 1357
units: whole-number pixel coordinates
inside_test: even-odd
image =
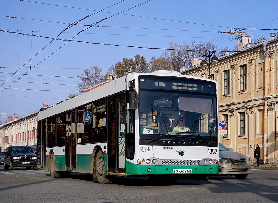
[[[176,132],[179,119],[187,131]],[[131,73],[38,113],[37,166],[176,181],[219,173],[217,82],[174,71]]]

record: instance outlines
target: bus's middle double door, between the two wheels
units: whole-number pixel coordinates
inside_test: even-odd
[[[76,169],[76,111],[66,114],[66,170]]]

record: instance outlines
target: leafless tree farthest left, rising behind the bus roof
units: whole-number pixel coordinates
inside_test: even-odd
[[[82,74],[77,75],[77,78],[81,80],[81,82],[76,83],[78,92],[70,93],[69,98],[80,95],[85,89],[104,82],[105,77],[101,74],[101,71],[102,69],[98,66],[91,66],[90,68],[83,69]]]

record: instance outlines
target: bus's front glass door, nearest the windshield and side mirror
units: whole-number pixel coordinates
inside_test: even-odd
[[[108,100],[108,173],[125,173],[125,95]]]

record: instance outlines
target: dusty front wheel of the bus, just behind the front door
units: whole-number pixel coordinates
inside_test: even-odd
[[[95,163],[96,178],[100,184],[109,184],[111,181],[104,175],[104,159],[101,151],[96,154]]]

